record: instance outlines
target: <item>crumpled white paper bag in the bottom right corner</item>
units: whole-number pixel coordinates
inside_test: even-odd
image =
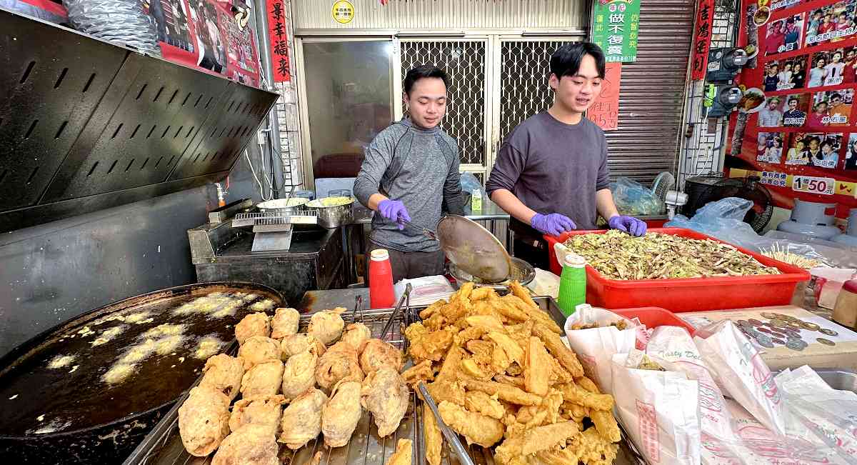
[[[787,431],[808,429],[817,444],[826,445],[845,462],[857,464],[857,394],[830,388],[807,365],[782,371],[776,383],[787,401]]]

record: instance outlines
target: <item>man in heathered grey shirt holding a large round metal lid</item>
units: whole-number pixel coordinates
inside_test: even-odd
[[[404,99],[411,117],[375,136],[354,182],[357,200],[375,210],[369,251],[389,251],[393,282],[441,275],[443,252],[423,226],[434,230],[442,209],[464,214],[458,145],[439,127],[447,81],[433,66],[408,71]],[[405,227],[411,219],[414,226]]]

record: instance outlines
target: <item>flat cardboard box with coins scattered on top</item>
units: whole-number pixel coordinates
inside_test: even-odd
[[[836,335],[830,335],[823,334],[819,330],[800,329],[800,339],[806,342],[806,347],[803,347],[802,350],[794,350],[781,344],[775,344],[773,348],[765,348],[762,359],[771,370],[810,365],[812,368],[840,368],[857,371],[857,333],[800,307],[781,305],[731,311],[695,311],[677,313],[676,316],[699,329],[724,319],[732,320],[736,324],[739,320],[749,321],[751,319],[770,323],[770,318],[763,317],[762,313],[779,313],[810,323],[810,326],[815,324],[818,325],[819,329],[829,329],[836,332]],[[764,328],[770,329],[768,326],[764,326]],[[818,342],[818,338],[833,342],[835,345],[830,346]]]

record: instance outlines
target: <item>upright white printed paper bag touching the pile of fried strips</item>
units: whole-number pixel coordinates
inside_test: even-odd
[[[612,358],[613,382],[621,386],[615,402],[622,425],[649,463],[697,465],[701,444],[698,383],[678,371],[626,366],[638,355],[634,349]]]

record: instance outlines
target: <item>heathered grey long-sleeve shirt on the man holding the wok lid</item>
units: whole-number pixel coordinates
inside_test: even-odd
[[[439,128],[425,130],[404,118],[382,130],[366,148],[354,182],[354,195],[369,206],[381,193],[405,204],[414,225],[437,227],[441,211],[464,214],[458,146]],[[437,241],[417,227],[399,226],[376,213],[369,236],[377,245],[397,251],[437,251]]]

